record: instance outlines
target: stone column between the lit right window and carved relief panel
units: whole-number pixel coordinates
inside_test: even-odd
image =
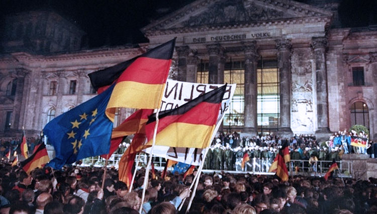
[[[279,99],[280,99],[280,118],[279,133],[292,134],[291,130],[291,39],[276,39],[277,63],[279,68]]]

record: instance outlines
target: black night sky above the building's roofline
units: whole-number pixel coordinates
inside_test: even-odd
[[[147,42],[139,31],[151,20],[194,0],[0,0],[0,14],[53,9],[87,33],[89,47]],[[297,0],[306,3],[310,0]],[[342,0],[343,27],[377,24],[377,0]]]

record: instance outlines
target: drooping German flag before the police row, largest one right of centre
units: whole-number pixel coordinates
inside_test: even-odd
[[[287,150],[288,149],[288,150]],[[269,167],[268,172],[276,172],[276,175],[282,180],[282,181],[287,181],[289,178],[288,175],[288,169],[286,165],[286,153],[288,151],[289,155],[289,147],[288,147],[288,142],[284,141],[282,144],[281,149],[277,153],[275,159],[273,160],[273,163]]]

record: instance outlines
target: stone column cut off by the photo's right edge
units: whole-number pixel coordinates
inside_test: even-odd
[[[373,91],[377,91],[377,52],[370,52],[370,70],[372,72],[373,80]],[[374,96],[372,99],[373,105],[377,106],[377,97]],[[369,108],[369,138],[370,140],[377,140],[377,119],[375,119],[375,115],[377,115],[377,108],[371,110],[371,106]]]

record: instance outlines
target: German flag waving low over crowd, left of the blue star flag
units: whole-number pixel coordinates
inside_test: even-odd
[[[21,167],[29,174],[37,167],[42,168],[49,161],[50,158],[48,157],[46,146],[41,143],[33,155],[21,162]]]

